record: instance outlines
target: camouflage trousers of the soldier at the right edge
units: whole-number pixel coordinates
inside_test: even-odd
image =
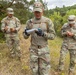
[[[68,49],[66,46],[62,46],[60,51],[59,70],[64,70],[64,62],[68,51],[70,55],[69,72],[74,73],[76,67],[76,49]]]

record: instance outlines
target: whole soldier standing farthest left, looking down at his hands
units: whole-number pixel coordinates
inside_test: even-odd
[[[1,30],[4,32],[6,37],[6,44],[10,50],[11,57],[17,56],[20,58],[20,46],[18,31],[20,30],[20,21],[14,17],[14,11],[12,8],[7,8],[7,17],[3,18],[1,23]]]

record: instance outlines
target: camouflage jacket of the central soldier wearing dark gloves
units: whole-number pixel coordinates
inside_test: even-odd
[[[27,29],[33,29],[33,28],[41,28],[44,32],[44,36],[38,36],[35,32],[31,34],[31,46],[47,46],[48,39],[54,39],[55,38],[55,31],[54,31],[54,25],[52,21],[44,16],[41,17],[40,20],[36,20],[35,18],[28,20],[26,23]],[[28,38],[27,35],[24,35],[25,39]]]

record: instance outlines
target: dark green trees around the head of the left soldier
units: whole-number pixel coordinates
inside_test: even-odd
[[[31,5],[33,1],[29,4]],[[32,17],[32,13],[29,11],[29,7],[25,7],[23,3],[17,2],[16,4],[12,4],[12,2],[0,1],[0,42],[2,42],[4,38],[4,34],[1,31],[1,20],[7,16],[6,9],[8,7],[12,7],[15,11],[15,16],[18,17],[21,23],[26,23],[26,20]]]

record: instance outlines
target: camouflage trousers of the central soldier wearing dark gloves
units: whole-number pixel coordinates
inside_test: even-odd
[[[48,47],[30,49],[30,67],[33,75],[50,75],[50,52]]]

